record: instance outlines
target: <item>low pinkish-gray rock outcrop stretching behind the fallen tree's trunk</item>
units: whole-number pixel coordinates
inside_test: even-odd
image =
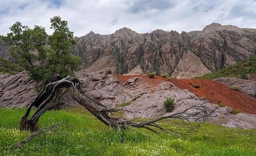
[[[123,85],[112,75],[110,69],[98,72],[76,73],[80,79],[82,89],[90,96],[109,107],[125,109],[134,113],[124,112],[128,118],[150,118],[160,115],[169,115],[204,103],[202,98],[196,97],[190,91],[178,89],[170,82],[147,83],[142,77],[132,77]],[[26,72],[17,75],[0,75],[0,106],[23,107],[29,105],[36,98],[34,83],[29,81]],[[174,99],[174,110],[166,112],[164,101]],[[73,101],[74,102],[74,101]],[[129,102],[130,105],[120,107],[120,104]],[[224,126],[238,128],[256,128],[256,115],[247,113],[232,114],[230,107],[206,103],[206,111],[192,115],[191,121],[216,122]],[[196,109],[188,111],[194,114]],[[200,116],[207,117],[200,118]]]

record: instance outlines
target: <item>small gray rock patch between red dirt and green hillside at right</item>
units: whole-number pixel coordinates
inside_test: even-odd
[[[256,81],[252,80],[239,79],[236,77],[220,77],[218,79],[214,79],[214,81],[218,81],[229,86],[238,85],[241,87],[241,91],[248,95],[253,95],[256,91]]]

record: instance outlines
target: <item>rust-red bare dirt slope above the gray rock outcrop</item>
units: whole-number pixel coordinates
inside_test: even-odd
[[[155,76],[149,78],[147,75],[116,75],[120,83],[125,83],[131,77],[142,77],[148,84],[159,84],[168,81],[166,78]],[[206,96],[211,103],[224,103],[225,106],[240,109],[242,112],[256,114],[256,99],[245,93],[234,91],[229,86],[208,79],[172,79],[170,80],[180,89],[188,89],[197,97]],[[190,83],[200,85],[199,88],[193,87]]]

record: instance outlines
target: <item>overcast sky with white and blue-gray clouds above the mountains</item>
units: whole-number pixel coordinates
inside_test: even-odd
[[[256,28],[256,0],[0,0],[0,34],[17,21],[43,26],[50,34],[53,16],[67,20],[74,36],[112,34],[123,27],[181,33],[212,22]]]

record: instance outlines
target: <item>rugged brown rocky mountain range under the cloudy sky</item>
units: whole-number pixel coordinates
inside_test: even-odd
[[[255,31],[212,23],[202,31],[138,34],[128,28],[114,34],[90,32],[80,38],[74,53],[87,71],[110,68],[114,74],[129,73],[138,65],[144,73],[156,71],[177,78],[217,71],[256,53]]]

